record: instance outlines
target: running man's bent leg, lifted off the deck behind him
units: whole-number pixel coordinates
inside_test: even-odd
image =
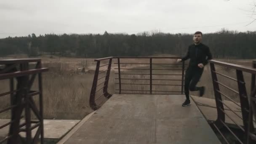
[[[203,69],[199,69],[194,72],[194,75],[192,77],[191,83],[189,85],[189,91],[200,91],[200,96],[203,96],[204,93],[204,87],[197,87],[197,83],[200,80],[201,76],[203,74]]]

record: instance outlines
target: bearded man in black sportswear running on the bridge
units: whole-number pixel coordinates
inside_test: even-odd
[[[196,84],[203,74],[204,66],[208,63],[209,59],[212,59],[212,55],[209,47],[201,43],[202,36],[202,32],[195,32],[193,37],[194,44],[189,45],[185,57],[177,60],[177,62],[180,62],[190,59],[189,66],[185,75],[184,90],[186,95],[186,101],[182,104],[183,107],[186,107],[190,104],[189,90],[199,91],[199,96],[203,96],[203,94],[205,93],[205,87],[197,87]]]

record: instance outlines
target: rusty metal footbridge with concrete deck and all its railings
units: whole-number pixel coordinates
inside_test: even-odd
[[[131,62],[131,59],[136,60]],[[213,84],[215,99],[191,96],[192,105],[181,107],[186,63],[174,63],[175,59],[178,58],[95,59],[90,94],[90,107],[94,112],[58,144],[255,144],[256,61],[252,67],[209,61],[211,81],[208,83]],[[3,65],[0,80],[10,83],[10,91],[1,93],[0,97],[10,95],[11,101],[10,107],[0,110],[0,113],[11,111],[10,122],[0,125],[0,131],[9,126],[8,135],[0,144],[43,144],[41,74],[48,68],[42,68],[40,59],[0,60],[0,65]],[[221,73],[219,67],[233,69],[235,77]],[[111,72],[115,77],[111,77]],[[251,75],[249,82],[244,78],[245,73]],[[37,76],[38,90],[32,91],[31,85]],[[226,83],[220,81],[220,77],[225,78]],[[235,83],[236,88],[229,87],[228,83]],[[115,89],[109,89],[110,84],[115,84]],[[234,93],[238,101],[226,91]],[[39,104],[32,99],[37,95]],[[32,120],[31,111],[37,120]]]

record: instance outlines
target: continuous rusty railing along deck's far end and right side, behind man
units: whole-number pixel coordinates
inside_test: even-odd
[[[94,80],[93,80],[93,86],[92,86],[92,90],[91,90],[91,96],[90,96],[90,106],[92,107],[92,109],[96,110],[100,107],[99,104],[96,104],[96,101],[98,101],[101,96],[105,96],[106,98],[109,98],[110,96],[112,96],[112,94],[108,93],[108,83],[109,83],[109,74],[110,74],[110,69],[111,69],[111,62],[112,59],[117,59],[117,69],[118,72],[115,72],[115,75],[118,75],[117,78],[114,78],[118,80],[118,82],[116,81],[114,84],[118,84],[118,88],[115,88],[116,93],[123,93],[123,94],[162,94],[162,93],[152,93],[152,92],[181,92],[181,94],[183,94],[184,92],[184,70],[185,70],[185,63],[182,62],[182,73],[180,72],[180,74],[175,73],[175,75],[181,75],[181,83],[179,84],[155,84],[152,83],[154,82],[154,80],[168,80],[168,79],[159,79],[159,78],[154,78],[152,77],[153,75],[156,75],[153,73],[153,69],[152,65],[154,65],[154,63],[152,62],[152,59],[179,59],[179,57],[125,57],[125,56],[115,56],[115,57],[107,57],[107,58],[102,58],[102,59],[95,59],[94,61],[97,61],[97,65],[96,65],[96,70],[95,70],[95,75],[94,75]],[[120,69],[128,69],[128,68],[123,68],[123,64],[137,64],[137,63],[131,63],[131,62],[125,62],[125,63],[121,63],[120,59],[148,59],[149,61],[147,63],[138,63],[138,64],[147,64],[147,66],[149,66],[149,68],[144,68],[144,71],[148,72],[144,72],[144,73],[137,73],[137,72],[120,72]],[[109,60],[109,64],[105,64],[106,66],[108,65],[108,69],[107,69],[107,74],[106,74],[106,79],[104,82],[100,83],[99,85],[104,83],[104,87],[100,88],[98,91],[100,92],[103,89],[103,92],[100,96],[98,96],[96,98],[95,96],[95,92],[96,92],[96,88],[97,88],[97,81],[98,81],[98,76],[101,72],[99,72],[99,68],[100,68],[100,62],[103,60]],[[136,61],[137,62],[137,61]],[[221,133],[220,129],[221,128],[226,128],[227,131],[229,131],[234,137],[235,139],[237,139],[237,141],[242,142],[243,144],[253,144],[255,142],[255,140],[253,140],[256,136],[255,136],[255,129],[253,128],[253,116],[256,117],[256,112],[253,111],[253,109],[256,109],[256,104],[254,104],[254,102],[256,101],[256,87],[255,87],[255,75],[256,75],[256,61],[253,61],[253,67],[245,67],[242,65],[238,65],[238,64],[230,64],[227,62],[222,62],[222,61],[217,61],[217,60],[210,60],[210,67],[211,67],[211,75],[212,75],[212,80],[213,80],[213,88],[214,88],[214,95],[215,95],[215,100],[216,100],[216,107],[217,107],[217,119],[216,121],[213,123],[213,128],[216,128],[217,131],[219,131],[219,133],[221,134],[221,136],[225,136]],[[157,63],[160,64],[160,63]],[[166,63],[165,63],[166,64]],[[231,69],[235,69],[236,72],[236,78],[230,77],[228,75],[224,75],[221,74],[221,72],[216,72],[215,69],[215,65],[219,65],[222,67],[228,67]],[[132,70],[136,70],[135,68],[130,68]],[[139,68],[142,69],[142,68]],[[162,69],[159,69],[162,70]],[[248,72],[252,74],[252,81],[251,81],[251,91],[253,91],[251,93],[251,105],[249,107],[249,101],[248,101],[248,97],[249,95],[246,92],[246,87],[245,87],[245,80],[243,77],[243,72]],[[127,76],[127,75],[144,75],[145,77],[142,78],[125,78],[125,77],[121,77],[122,76]],[[159,75],[165,75],[165,74],[159,74]],[[170,75],[170,74],[169,74]],[[232,82],[236,82],[237,83],[237,90],[233,89],[233,88],[229,88],[228,85],[225,85],[223,83],[220,83],[217,79],[217,75],[220,75],[222,77],[228,78],[228,80],[232,80]],[[108,76],[108,77],[107,77]],[[149,77],[146,77],[149,76]],[[102,77],[101,77],[102,78]],[[254,78],[254,81],[253,81]],[[107,80],[107,81],[106,81]],[[131,83],[128,82],[124,82],[125,80],[133,80]],[[147,80],[147,83],[136,83],[134,82],[134,80]],[[178,80],[178,79],[176,79]],[[175,80],[175,81],[176,81]],[[170,81],[173,81],[173,79],[170,79]],[[143,85],[145,86],[143,89],[139,90],[139,89],[135,89],[133,90],[132,88],[128,88],[126,87],[126,85]],[[122,86],[125,85],[125,86]],[[181,91],[161,91],[159,89],[154,90],[152,88],[153,85],[171,85],[171,86],[181,86]],[[227,94],[224,94],[223,92],[221,92],[220,90],[220,86],[221,85],[223,88],[228,88],[228,89],[232,89],[233,91],[237,92],[237,94],[239,95],[240,98],[240,106],[241,107],[241,111],[242,111],[242,116],[238,115],[237,113],[235,113],[235,115],[239,116],[240,118],[242,118],[243,120],[243,126],[242,125],[238,125],[239,123],[237,121],[235,121],[235,119],[232,118],[232,121],[237,125],[238,128],[241,129],[241,131],[243,132],[244,136],[246,137],[245,139],[240,139],[238,138],[235,133],[232,131],[232,129],[230,129],[229,127],[227,127],[227,125],[225,124],[225,117],[230,117],[230,115],[227,115],[227,112],[225,112],[224,110],[224,105],[226,107],[228,107],[230,109],[231,112],[235,112],[234,110],[232,110],[232,107],[229,107],[229,105],[227,103],[225,103],[224,101],[222,101],[222,96],[224,96],[225,98],[232,100],[231,98],[229,98],[229,96]],[[97,91],[97,92],[98,92]],[[134,92],[126,92],[126,91],[134,91]],[[136,93],[136,91],[141,91],[142,93]],[[176,94],[175,93],[175,94]],[[167,93],[170,94],[170,93]],[[235,102],[234,100],[232,100],[231,102]],[[253,105],[253,104],[254,105]],[[224,137],[225,140],[227,140]]]

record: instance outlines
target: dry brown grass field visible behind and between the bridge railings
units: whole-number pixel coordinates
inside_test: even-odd
[[[170,55],[161,55],[170,56]],[[15,57],[11,56],[8,58],[22,58],[23,56]],[[25,57],[25,56],[24,56]],[[6,59],[6,58],[0,58]],[[94,59],[83,59],[83,58],[59,58],[55,56],[42,56],[40,57],[43,61],[43,67],[50,68],[49,72],[43,74],[43,103],[44,103],[44,117],[46,119],[81,119],[92,110],[89,107],[89,95],[91,92],[92,81],[94,76],[94,70],[96,62]],[[244,66],[251,67],[252,60],[233,60],[233,59],[220,59],[220,61],[226,61],[234,64],[241,64]],[[107,64],[108,61],[102,61],[101,64]],[[149,59],[121,59],[121,63],[149,63]],[[181,66],[169,65],[175,63],[174,59],[155,59],[154,63],[163,63],[160,65],[153,65],[153,69],[180,69]],[[110,93],[118,92],[119,85],[117,73],[116,60],[112,62],[112,71],[109,80],[109,91]],[[121,64],[122,68],[141,68],[148,69],[147,64]],[[81,68],[85,68],[85,72],[81,71]],[[101,67],[101,71],[107,69]],[[225,75],[235,77],[235,70],[227,69],[223,67],[216,67],[218,72]],[[149,70],[127,70],[122,69],[121,73],[136,73],[136,74],[149,74]],[[153,74],[181,74],[179,70],[153,70]],[[103,76],[104,73],[99,75]],[[149,75],[121,75],[122,78],[133,78],[133,79],[149,79]],[[246,88],[249,94],[249,88],[251,83],[251,75],[245,73]],[[153,84],[175,84],[181,85],[181,76],[171,75],[153,75],[152,79],[164,79],[164,80],[153,80]],[[174,79],[170,81],[167,79]],[[225,85],[237,90],[237,82],[228,80],[225,77],[218,76],[218,80]],[[103,82],[104,79],[99,80],[98,83]],[[37,81],[33,85],[32,89],[37,89]],[[121,80],[121,83],[140,83],[149,84],[149,80]],[[205,85],[206,93],[205,97],[214,98],[213,84],[211,79],[211,72],[209,64],[205,67],[203,76],[198,83],[198,86]],[[221,91],[230,96],[235,101],[239,102],[239,97],[232,91],[221,87]],[[121,89],[136,90],[136,91],[122,91],[123,93],[149,93],[143,92],[149,90],[149,85],[121,85]],[[0,81],[0,93],[9,90],[8,80]],[[181,91],[181,86],[163,86],[153,85],[153,93],[166,93],[166,92],[154,92],[154,91]],[[99,93],[101,94],[101,93]],[[180,93],[177,93],[180,94]],[[192,95],[198,95],[197,92],[192,92]],[[96,97],[99,95],[96,95]],[[35,96],[35,101],[38,102],[38,98]],[[0,109],[8,107],[10,104],[9,96],[1,97]],[[9,112],[2,113],[0,118],[9,118]]]

